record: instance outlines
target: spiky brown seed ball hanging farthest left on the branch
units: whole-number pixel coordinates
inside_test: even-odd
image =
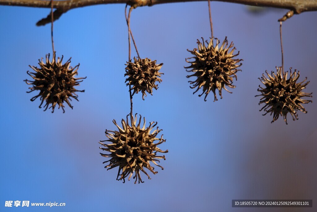
[[[40,68],[36,66],[30,66],[35,72],[27,71],[27,74],[33,78],[33,81],[25,79],[24,81],[28,85],[33,85],[29,89],[31,91],[27,92],[30,93],[32,91],[39,91],[39,94],[34,96],[31,101],[34,101],[38,97],[42,100],[39,108],[41,108],[43,102],[45,101],[46,104],[44,105],[45,110],[51,105],[49,108],[52,108],[52,113],[54,113],[54,108],[58,105],[58,109],[61,107],[64,110],[64,101],[73,109],[73,106],[69,103],[71,98],[76,99],[79,101],[78,95],[75,92],[85,92],[85,90],[79,91],[74,88],[74,86],[78,86],[80,82],[86,79],[86,77],[82,78],[74,78],[74,75],[77,75],[77,70],[79,64],[76,65],[74,68],[70,66],[70,59],[63,65],[61,58],[57,58],[56,54],[53,53],[52,62],[49,61],[50,54],[46,55],[46,61],[43,62],[43,58],[39,60]],[[80,81],[78,81],[80,80]]]

